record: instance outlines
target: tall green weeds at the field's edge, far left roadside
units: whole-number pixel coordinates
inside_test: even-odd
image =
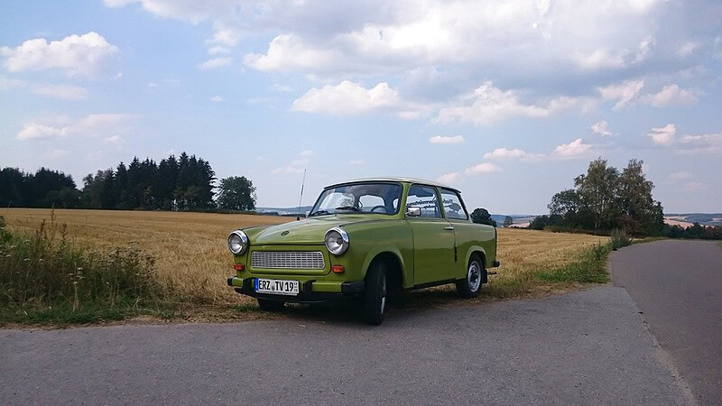
[[[136,247],[99,252],[74,247],[54,213],[50,223],[43,220],[30,236],[10,232],[3,217],[0,227],[2,318],[33,319],[53,308],[90,318],[103,317],[105,310],[122,317],[162,296],[153,257]],[[59,317],[57,311],[51,313]]]

